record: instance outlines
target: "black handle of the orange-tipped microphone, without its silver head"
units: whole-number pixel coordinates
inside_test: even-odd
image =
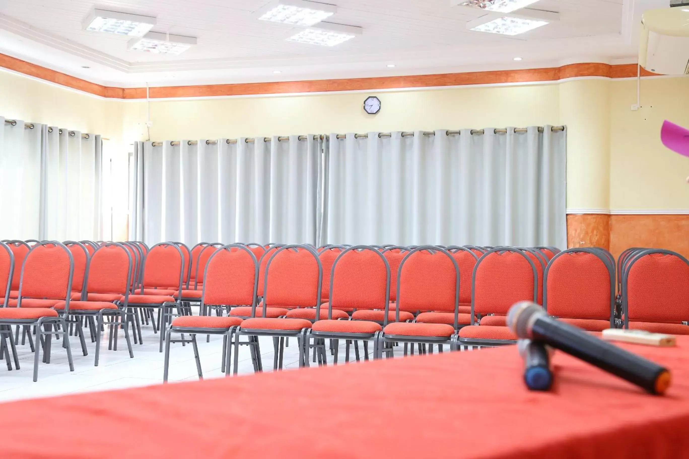
[[[534,341],[543,341],[553,348],[643,387],[652,394],[662,394],[669,383],[670,374],[666,368],[607,341],[597,339],[568,323],[549,317],[538,317],[533,321],[531,337]],[[666,376],[661,378],[661,374]],[[659,381],[660,378],[663,381]]]

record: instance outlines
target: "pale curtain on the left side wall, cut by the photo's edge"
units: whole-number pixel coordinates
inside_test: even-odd
[[[101,136],[0,117],[0,239],[101,239]]]

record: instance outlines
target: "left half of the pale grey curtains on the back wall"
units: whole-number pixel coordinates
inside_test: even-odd
[[[136,142],[130,237],[316,243],[320,136]]]

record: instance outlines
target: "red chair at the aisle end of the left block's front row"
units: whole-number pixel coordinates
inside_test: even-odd
[[[183,255],[182,250],[174,242],[161,242],[148,250],[143,262],[142,287],[134,290],[127,301],[127,314],[134,316],[136,308],[158,309],[160,320],[158,329],[161,331],[160,352],[163,352],[165,328],[169,317],[172,317],[172,308],[177,307],[181,314],[182,279],[183,279]],[[176,290],[166,290],[169,286],[177,285]],[[143,288],[149,286],[150,288]],[[157,287],[157,288],[156,288]],[[159,290],[159,292],[154,292]],[[125,297],[121,297],[125,301]],[[156,329],[154,328],[154,331]],[[138,329],[138,340],[141,343],[141,328]]]

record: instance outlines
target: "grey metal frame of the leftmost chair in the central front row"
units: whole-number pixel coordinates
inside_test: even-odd
[[[253,295],[251,296],[251,307],[256,308],[256,290],[258,290],[258,261],[256,260],[256,255],[254,255],[247,246],[243,244],[227,244],[225,246],[222,246],[218,248],[218,250],[215,250],[214,253],[209,257],[205,269],[204,269],[204,275],[203,278],[206,279],[206,275],[208,273],[208,266],[211,264],[212,259],[218,255],[218,253],[221,253],[223,250],[230,250],[232,248],[238,248],[238,250],[244,250],[246,253],[248,253],[251,256],[251,259],[254,261],[254,287],[253,287]],[[198,266],[197,266],[198,267]],[[204,281],[203,283],[203,295],[201,297],[201,311],[206,311],[207,308],[205,308],[205,292],[206,292],[206,286],[207,283]],[[201,314],[205,315],[205,314]],[[225,376],[229,376],[230,369],[231,369],[231,363],[232,363],[232,345],[233,345],[233,338],[234,334],[236,333],[238,327],[237,326],[232,326],[229,328],[201,328],[201,327],[182,327],[182,326],[176,326],[176,325],[171,325],[170,328],[167,330],[167,333],[165,334],[165,360],[163,364],[163,382],[167,382],[167,376],[168,376],[168,370],[169,370],[169,353],[170,353],[170,343],[192,343],[192,346],[194,348],[194,360],[196,361],[196,371],[198,372],[198,378],[203,379],[203,371],[201,370],[201,361],[199,358],[198,354],[198,345],[196,344],[196,334],[220,334],[223,336],[223,356],[221,359],[221,368],[220,370],[225,372]],[[180,334],[181,337],[178,339],[172,339],[172,334]],[[191,339],[185,339],[184,334],[189,333],[191,334]],[[260,356],[260,350],[258,349],[258,340],[250,340],[247,343],[241,343],[241,344],[246,344],[249,345],[249,348],[251,350],[251,359],[254,362],[254,370],[258,371],[258,357]]]

